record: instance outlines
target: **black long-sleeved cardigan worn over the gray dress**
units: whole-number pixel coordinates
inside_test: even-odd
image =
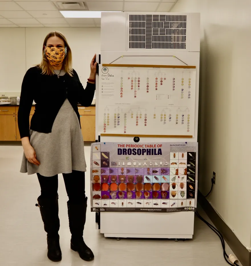
[[[78,74],[73,70],[73,77],[68,74],[43,75],[38,67],[27,70],[20,96],[18,109],[18,127],[21,138],[29,137],[29,128],[34,131],[50,133],[58,111],[67,98],[78,116],[77,104],[90,106],[94,97],[95,84],[87,83],[83,88]],[[33,100],[36,103],[35,113],[29,127],[29,116]]]

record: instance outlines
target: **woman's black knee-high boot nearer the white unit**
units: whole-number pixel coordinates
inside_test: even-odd
[[[94,259],[91,249],[84,243],[83,231],[86,221],[87,197],[84,202],[67,202],[69,227],[72,234],[71,249],[78,251],[81,259],[90,261]]]

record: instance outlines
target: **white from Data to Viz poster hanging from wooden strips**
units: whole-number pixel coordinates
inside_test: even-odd
[[[194,136],[196,68],[143,66],[101,68],[99,133]]]

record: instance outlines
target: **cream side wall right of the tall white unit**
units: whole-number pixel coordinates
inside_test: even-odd
[[[178,0],[171,12],[201,12],[199,189],[251,246],[251,1]]]

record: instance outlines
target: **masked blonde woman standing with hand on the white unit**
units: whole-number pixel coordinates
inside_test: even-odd
[[[62,259],[59,245],[58,174],[62,173],[66,192],[70,246],[86,261],[94,258],[84,243],[87,197],[85,196],[86,163],[84,142],[77,104],[90,106],[94,97],[96,55],[86,89],[72,69],[72,53],[60,32],[50,32],[44,39],[42,61],[30,68],[23,79],[18,126],[24,149],[21,173],[37,173],[41,195],[37,201],[44,230],[47,232],[48,258]],[[33,100],[35,113],[29,116]]]

